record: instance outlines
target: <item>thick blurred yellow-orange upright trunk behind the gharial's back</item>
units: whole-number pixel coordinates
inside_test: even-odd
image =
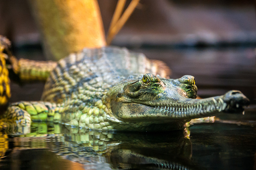
[[[30,0],[48,59],[106,45],[97,0]]]

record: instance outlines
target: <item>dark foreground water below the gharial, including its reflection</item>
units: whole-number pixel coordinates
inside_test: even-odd
[[[25,135],[0,135],[0,168],[255,169],[254,127],[215,122],[189,130],[190,137],[187,131],[111,133],[34,124],[31,133],[19,130]]]

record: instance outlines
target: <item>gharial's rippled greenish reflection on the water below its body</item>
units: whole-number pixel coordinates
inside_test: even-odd
[[[186,131],[115,133],[46,123],[17,129],[1,135],[1,168],[200,169]]]

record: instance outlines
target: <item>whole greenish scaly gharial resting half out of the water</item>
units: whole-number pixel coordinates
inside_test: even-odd
[[[22,62],[36,69],[36,75],[23,70],[25,77],[49,74],[42,101],[12,103],[3,115],[5,121],[22,126],[53,121],[97,130],[175,130],[191,119],[241,111],[249,104],[236,90],[196,99],[193,76],[166,79],[163,63],[125,48],[85,48],[57,64]],[[22,64],[17,66],[22,70]]]

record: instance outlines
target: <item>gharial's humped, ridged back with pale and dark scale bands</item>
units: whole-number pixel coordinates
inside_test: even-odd
[[[60,103],[67,98],[74,99],[80,93],[100,98],[100,94],[113,85],[139,78],[145,73],[165,77],[166,68],[163,62],[152,62],[144,54],[129,52],[125,48],[85,48],[58,62],[45,84],[42,100]]]

